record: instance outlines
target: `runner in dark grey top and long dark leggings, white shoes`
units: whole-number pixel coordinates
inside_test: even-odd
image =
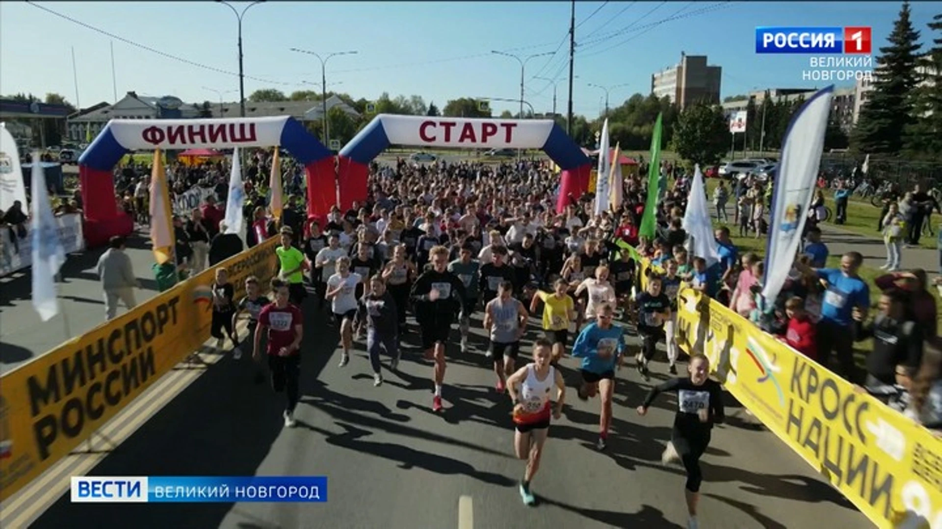
[[[380,350],[392,357],[390,371],[396,371],[399,364],[399,337],[397,333],[396,300],[386,292],[386,283],[382,277],[374,275],[369,280],[369,291],[360,298],[358,318],[366,322],[366,352],[373,367],[374,386],[382,384],[380,372]]]

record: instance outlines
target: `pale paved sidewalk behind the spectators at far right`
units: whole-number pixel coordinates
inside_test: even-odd
[[[821,242],[831,250],[831,255],[859,251],[864,256],[864,265],[874,270],[880,270],[880,267],[886,263],[886,248],[883,239],[844,230],[826,222],[821,222],[818,227],[821,229]],[[938,250],[902,248],[900,264],[902,269],[922,268],[932,280],[939,271]]]

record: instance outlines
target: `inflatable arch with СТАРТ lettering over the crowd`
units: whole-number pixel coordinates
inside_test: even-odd
[[[340,151],[340,205],[366,199],[369,163],[389,145],[543,149],[562,169],[557,210],[589,186],[591,161],[554,120],[491,120],[381,114]]]

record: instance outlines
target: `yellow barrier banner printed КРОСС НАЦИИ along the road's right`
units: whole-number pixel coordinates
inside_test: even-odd
[[[942,440],[692,289],[677,343],[879,527],[942,528]]]

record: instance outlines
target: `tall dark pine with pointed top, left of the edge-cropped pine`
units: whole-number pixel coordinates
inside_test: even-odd
[[[899,154],[904,131],[915,121],[913,96],[921,44],[909,12],[909,2],[903,2],[889,45],[880,48],[873,89],[853,130],[853,146],[858,152]]]

